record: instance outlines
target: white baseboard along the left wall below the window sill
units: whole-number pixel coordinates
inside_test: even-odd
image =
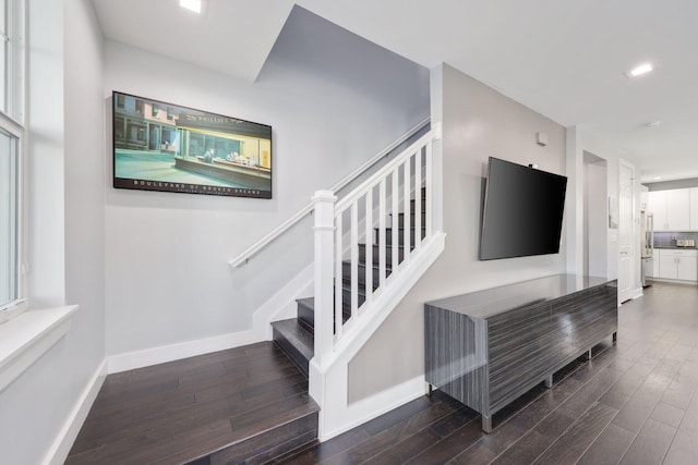
[[[97,367],[89,382],[87,382],[87,386],[85,386],[83,393],[65,419],[53,444],[51,444],[51,448],[44,456],[44,461],[41,462],[44,465],[61,465],[65,462],[70,449],[73,446],[75,438],[77,438],[80,428],[82,428],[83,423],[85,423],[85,418],[87,418],[92,404],[95,402],[95,399],[97,399],[97,394],[106,377],[107,360],[104,359]]]

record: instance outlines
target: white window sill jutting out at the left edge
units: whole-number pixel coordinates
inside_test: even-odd
[[[76,309],[26,310],[0,325],[0,392],[65,335]]]

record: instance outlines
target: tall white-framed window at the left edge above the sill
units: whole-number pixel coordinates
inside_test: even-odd
[[[24,0],[0,0],[0,322],[25,307],[23,17]]]

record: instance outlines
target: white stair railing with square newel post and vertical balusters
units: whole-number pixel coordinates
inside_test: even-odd
[[[412,255],[432,237],[434,208],[441,207],[433,201],[432,146],[440,138],[441,126],[435,125],[339,201],[332,191],[315,193],[314,363],[318,366],[333,358],[351,327],[370,318],[372,302],[400,279]],[[441,172],[437,175],[441,179]],[[363,265],[360,243],[364,244]]]

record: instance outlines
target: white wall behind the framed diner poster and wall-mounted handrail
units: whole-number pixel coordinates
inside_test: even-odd
[[[105,99],[116,89],[274,131],[270,200],[107,187],[110,355],[249,329],[312,261],[311,221],[243,268],[227,260],[429,115],[428,70],[302,9],[254,84],[109,41],[106,63]]]

